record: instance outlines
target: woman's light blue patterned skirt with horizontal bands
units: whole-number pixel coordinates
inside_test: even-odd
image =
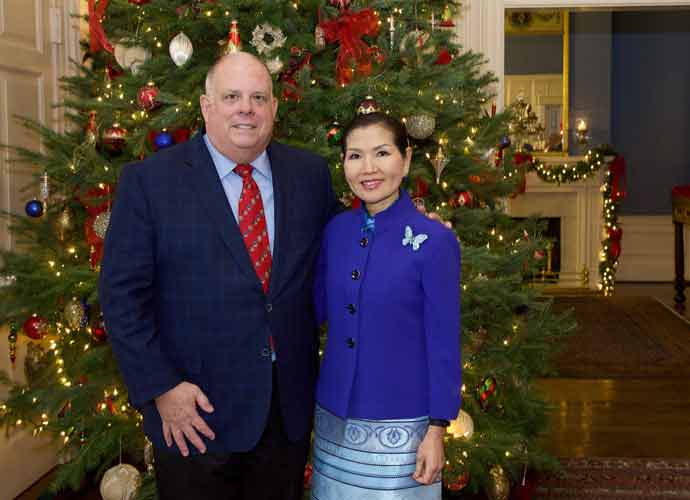
[[[441,482],[412,474],[427,417],[343,420],[316,407],[312,500],[440,500]]]

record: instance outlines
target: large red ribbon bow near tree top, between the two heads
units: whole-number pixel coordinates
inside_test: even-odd
[[[340,42],[335,64],[340,85],[347,85],[356,75],[371,74],[372,55],[375,54],[372,54],[372,48],[362,41],[362,37],[375,37],[378,34],[379,16],[373,9],[366,8],[357,12],[343,10],[337,19],[319,21],[319,26],[323,29],[326,42]]]

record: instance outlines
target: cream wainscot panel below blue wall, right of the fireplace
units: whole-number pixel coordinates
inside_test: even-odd
[[[671,282],[675,278],[671,215],[622,216],[622,252],[617,281]],[[685,228],[685,279],[690,279],[690,227]]]

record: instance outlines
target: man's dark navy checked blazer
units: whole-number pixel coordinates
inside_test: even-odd
[[[199,409],[216,434],[204,438],[208,451],[252,449],[271,403],[269,335],[288,437],[311,429],[313,267],[338,205],[322,158],[277,142],[268,155],[276,235],[268,294],[201,134],[127,165],[120,176],[99,297],[129,399],[154,446],[165,446],[154,398],[188,381],[215,409]]]

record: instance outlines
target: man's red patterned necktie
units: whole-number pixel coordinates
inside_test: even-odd
[[[254,167],[251,165],[237,165],[234,168],[234,172],[242,177],[242,193],[237,216],[249,259],[261,281],[264,293],[268,293],[268,282],[271,279],[271,246],[268,241],[264,204],[261,201],[259,186],[252,177],[253,170]]]

